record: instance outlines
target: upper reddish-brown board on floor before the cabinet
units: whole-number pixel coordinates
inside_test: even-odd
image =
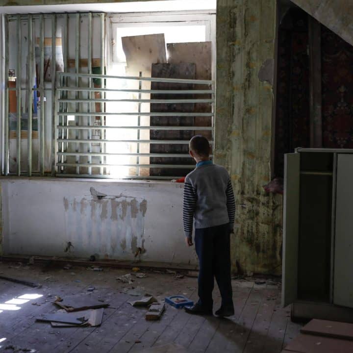
[[[315,336],[353,340],[353,324],[343,322],[313,319],[301,328],[301,332]]]

